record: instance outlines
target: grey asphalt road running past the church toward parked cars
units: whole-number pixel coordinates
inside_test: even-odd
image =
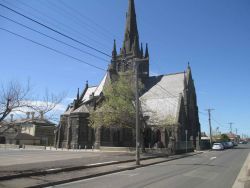
[[[59,185],[74,188],[231,188],[250,145]]]

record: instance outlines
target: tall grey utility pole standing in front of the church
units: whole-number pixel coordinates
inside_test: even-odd
[[[135,109],[136,109],[136,165],[140,165],[140,127],[139,127],[139,87],[138,62],[135,60]]]

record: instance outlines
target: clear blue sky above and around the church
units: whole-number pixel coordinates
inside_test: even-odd
[[[127,0],[0,0],[0,3],[105,54],[111,55],[114,39],[118,48],[122,46]],[[208,132],[206,109],[212,108],[213,129],[219,127],[219,131],[228,132],[228,123],[233,122],[233,132],[237,128],[238,134],[250,135],[250,1],[135,0],[135,4],[140,41],[144,49],[146,43],[149,45],[150,74],[182,72],[190,62],[202,131]],[[0,6],[1,84],[10,80],[25,83],[30,79],[38,95],[46,89],[55,94],[66,92],[62,110],[76,97],[77,88],[82,90],[87,80],[89,85],[98,85],[105,75],[105,71],[85,63],[106,70],[109,62],[107,55]]]

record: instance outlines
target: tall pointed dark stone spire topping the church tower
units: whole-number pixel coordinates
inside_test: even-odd
[[[136,13],[135,13],[135,3],[134,0],[129,0],[128,12],[126,15],[126,29],[125,36],[123,41],[123,50],[128,52],[132,51],[133,47],[136,47],[136,51],[139,51],[139,34],[137,29],[136,22]]]

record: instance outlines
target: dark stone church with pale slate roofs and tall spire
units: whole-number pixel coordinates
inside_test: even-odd
[[[116,42],[107,73],[98,86],[86,83],[77,93],[64,114],[56,133],[56,147],[100,148],[100,146],[135,146],[135,130],[129,128],[99,128],[89,126],[89,113],[100,104],[103,88],[120,72],[135,71],[138,63],[139,79],[144,85],[140,95],[142,145],[144,147],[173,147],[181,149],[189,140],[195,147],[199,139],[200,123],[196,91],[190,65],[183,72],[160,76],[149,75],[149,49],[139,42],[134,0],[129,0],[123,46],[117,52]]]

